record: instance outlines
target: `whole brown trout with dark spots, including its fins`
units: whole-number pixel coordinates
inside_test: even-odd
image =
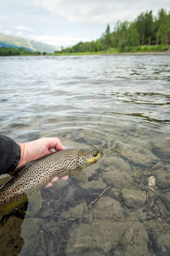
[[[35,209],[40,209],[40,190],[55,176],[70,175],[87,182],[87,176],[81,170],[96,163],[102,155],[102,151],[91,148],[63,149],[16,169],[11,180],[0,187],[0,217],[26,199]]]

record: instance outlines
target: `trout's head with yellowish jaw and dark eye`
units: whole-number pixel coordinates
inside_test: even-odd
[[[89,166],[92,163],[96,163],[101,157],[103,153],[100,150],[95,150],[91,148],[80,148],[79,154],[77,157],[77,166]]]

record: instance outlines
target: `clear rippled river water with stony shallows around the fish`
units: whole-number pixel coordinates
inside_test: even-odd
[[[104,152],[88,183],[59,180],[36,218],[8,218],[2,255],[169,255],[170,56],[1,57],[0,108],[14,140]]]

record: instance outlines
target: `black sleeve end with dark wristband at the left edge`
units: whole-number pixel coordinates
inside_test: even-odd
[[[0,175],[12,172],[20,160],[20,145],[0,134]]]

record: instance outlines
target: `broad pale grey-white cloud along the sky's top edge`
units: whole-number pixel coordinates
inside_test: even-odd
[[[168,3],[156,0],[33,0],[33,3],[71,22],[97,24],[130,21],[146,9],[152,9],[154,14],[162,7],[169,9]]]

